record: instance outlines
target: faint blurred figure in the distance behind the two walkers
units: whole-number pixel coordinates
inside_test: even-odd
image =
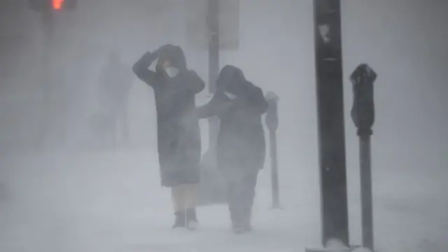
[[[115,50],[109,52],[108,62],[99,77],[100,111],[94,119],[98,130],[96,134],[102,144],[116,147],[118,136],[122,144],[129,141],[127,106],[132,79],[132,72],[122,61],[120,54]]]

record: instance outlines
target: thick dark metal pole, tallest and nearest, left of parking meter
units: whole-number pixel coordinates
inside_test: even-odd
[[[314,0],[322,242],[349,246],[339,0]]]

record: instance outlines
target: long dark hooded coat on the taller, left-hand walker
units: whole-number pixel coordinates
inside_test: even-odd
[[[159,59],[159,64],[156,71],[151,71],[148,67],[155,59]],[[179,69],[174,78],[167,76],[160,66],[165,59]],[[204,81],[195,71],[187,69],[183,51],[174,45],[146,52],[132,69],[154,90],[162,186],[199,183],[201,141],[195,94],[204,90]]]

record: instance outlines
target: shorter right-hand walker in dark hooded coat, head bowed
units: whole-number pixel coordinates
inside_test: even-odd
[[[251,230],[251,211],[258,171],[265,162],[265,132],[261,117],[267,102],[260,87],[246,80],[241,69],[224,66],[216,82],[216,93],[200,106],[200,118],[218,116],[216,143],[218,169],[228,181],[228,203],[232,229]]]

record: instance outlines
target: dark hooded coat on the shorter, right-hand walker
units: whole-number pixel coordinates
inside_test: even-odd
[[[225,92],[236,97],[231,99]],[[200,118],[220,119],[216,143],[220,169],[262,169],[266,144],[261,117],[266,111],[267,102],[260,87],[246,80],[241,69],[224,66],[214,97],[197,110]]]

